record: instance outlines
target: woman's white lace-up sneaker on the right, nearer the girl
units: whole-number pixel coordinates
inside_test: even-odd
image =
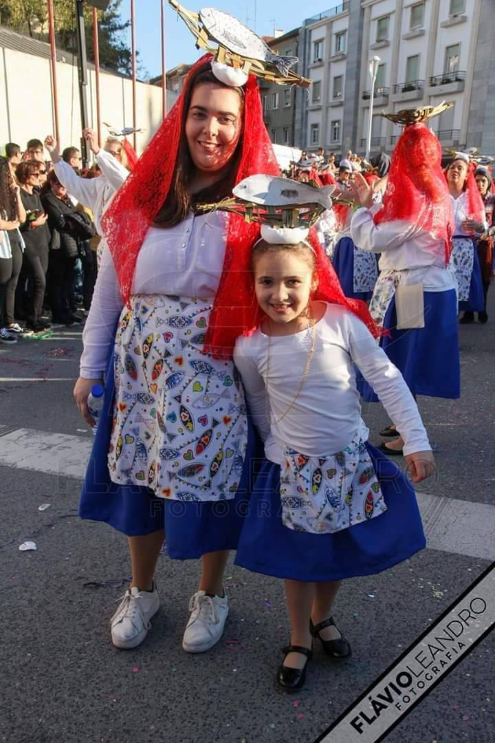
[[[207,596],[206,591],[197,591],[189,599],[191,616],[183,637],[183,649],[187,652],[205,652],[217,644],[223,635],[225,620],[229,614],[229,599],[223,589],[223,597]]]

